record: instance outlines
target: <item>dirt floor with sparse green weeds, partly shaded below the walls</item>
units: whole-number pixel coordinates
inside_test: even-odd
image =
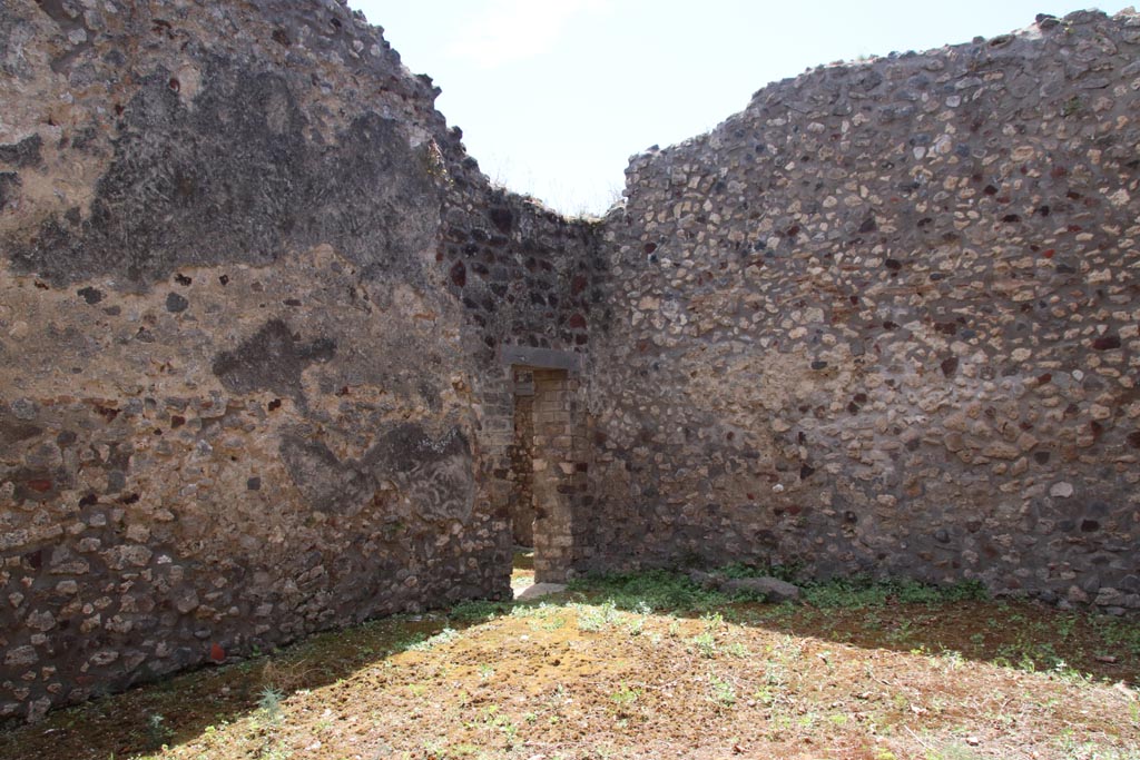
[[[594,580],[58,711],[0,758],[1140,758],[1140,626],[972,596]]]

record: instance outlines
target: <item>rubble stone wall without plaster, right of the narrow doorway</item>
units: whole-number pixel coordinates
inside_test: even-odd
[[[635,156],[595,565],[1140,606],[1140,17],[831,65]]]

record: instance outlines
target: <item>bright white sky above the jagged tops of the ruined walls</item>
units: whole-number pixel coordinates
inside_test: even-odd
[[[349,0],[442,88],[491,180],[603,212],[630,155],[705,132],[806,68],[994,36],[1080,0]],[[1123,2],[1100,8],[1114,14]]]

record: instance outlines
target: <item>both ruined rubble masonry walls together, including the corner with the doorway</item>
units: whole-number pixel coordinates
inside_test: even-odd
[[[587,222],[337,2],[5,3],[0,716],[505,596],[535,497],[552,577],[1140,606],[1138,51],[822,67]]]

